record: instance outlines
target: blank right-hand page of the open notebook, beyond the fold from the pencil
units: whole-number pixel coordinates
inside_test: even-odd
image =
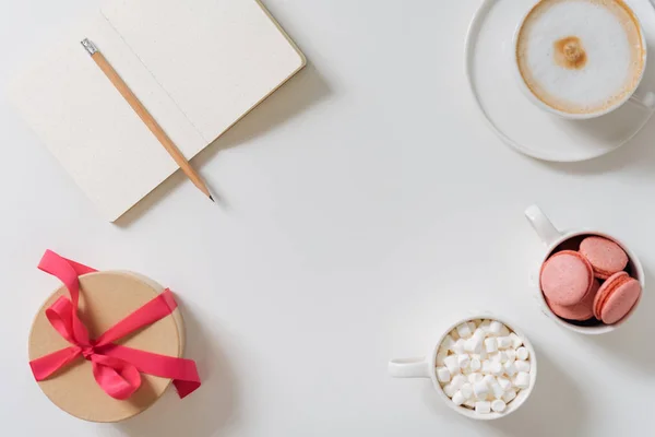
[[[305,64],[253,0],[110,0],[102,11],[207,142]]]

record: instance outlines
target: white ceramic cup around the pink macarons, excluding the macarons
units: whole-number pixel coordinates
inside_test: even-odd
[[[539,236],[539,238],[541,239],[544,245],[546,245],[546,252],[544,253],[544,257],[540,259],[535,271],[531,274],[532,288],[535,293],[535,298],[539,303],[539,306],[541,307],[541,311],[545,315],[551,317],[559,326],[570,329],[572,331],[582,333],[582,334],[604,334],[606,332],[611,332],[615,329],[617,329],[619,326],[621,326],[621,323],[627,321],[630,318],[630,316],[632,316],[632,314],[639,306],[641,297],[640,297],[640,300],[638,300],[634,304],[634,306],[632,307],[630,312],[626,317],[623,317],[620,321],[618,321],[617,323],[614,323],[614,324],[603,324],[603,323],[598,322],[598,324],[596,324],[596,326],[579,326],[579,324],[571,323],[571,322],[558,317],[555,312],[552,312],[552,310],[546,303],[544,293],[541,293],[541,287],[539,285],[539,273],[541,271],[541,265],[544,264],[544,262],[546,262],[546,260],[552,255],[552,252],[559,246],[561,246],[562,244],[565,244],[568,240],[574,239],[576,237],[581,238],[582,236],[586,236],[586,235],[597,235],[597,236],[610,239],[610,240],[615,241],[616,244],[618,244],[619,246],[621,246],[621,248],[626,251],[626,253],[628,255],[628,258],[629,258],[628,265],[630,269],[630,273],[631,273],[632,277],[634,277],[635,280],[639,281],[639,283],[642,286],[642,291],[645,290],[644,288],[645,287],[644,270],[643,270],[641,261],[639,260],[636,255],[632,250],[630,250],[630,248],[628,246],[626,246],[621,240],[619,240],[618,238],[616,238],[614,236],[610,236],[610,235],[599,232],[599,231],[593,231],[593,229],[575,229],[575,231],[567,231],[567,232],[558,231],[552,225],[550,220],[548,220],[546,214],[544,214],[544,212],[537,205],[528,206],[525,210],[525,216],[527,217],[528,222],[531,223],[531,225],[533,226],[533,228],[535,229],[535,232],[537,233],[537,235]]]

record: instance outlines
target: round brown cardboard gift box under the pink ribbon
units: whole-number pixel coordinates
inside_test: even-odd
[[[138,273],[114,271],[80,276],[79,316],[92,339],[164,292],[164,287]],[[68,347],[70,344],[50,326],[45,310],[60,296],[59,287],[41,306],[32,323],[29,359]],[[179,308],[117,344],[162,355],[181,357],[184,349],[183,321]],[[48,379],[38,382],[44,393],[67,413],[91,422],[119,422],[132,417],[162,397],[171,380],[141,374],[139,390],[119,401],[100,389],[93,377],[91,362],[80,357]]]

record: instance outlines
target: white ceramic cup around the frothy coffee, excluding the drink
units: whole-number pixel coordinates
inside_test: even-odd
[[[536,1],[535,3],[540,2],[541,0]],[[555,114],[557,116],[560,116],[562,118],[565,119],[570,119],[570,120],[585,120],[585,119],[591,119],[591,118],[596,118],[596,117],[600,117],[604,116],[606,114],[609,114],[616,109],[618,109],[619,107],[621,107],[626,102],[630,101],[645,109],[652,110],[653,108],[655,108],[655,93],[648,90],[643,90],[642,87],[640,87],[640,84],[642,82],[642,79],[644,76],[644,72],[646,71],[646,60],[647,60],[647,44],[646,44],[646,38],[644,36],[644,32],[642,28],[642,25],[636,16],[636,14],[632,12],[632,15],[634,16],[634,21],[640,29],[640,36],[641,36],[641,44],[643,47],[643,68],[641,70],[639,80],[635,82],[634,87],[632,90],[632,92],[627,93],[621,99],[618,99],[617,102],[615,102],[614,105],[605,108],[604,110],[599,110],[599,111],[594,111],[594,113],[567,113],[563,110],[559,110],[557,108],[553,108],[550,105],[547,105],[546,103],[541,102],[541,99],[539,99],[533,92],[532,90],[527,86],[527,84],[525,83],[523,75],[521,74],[521,70],[519,68],[519,60],[515,56],[516,54],[516,48],[517,48],[517,44],[519,44],[519,36],[521,34],[521,28],[523,27],[526,19],[529,16],[531,12],[532,12],[531,8],[525,15],[523,16],[523,19],[521,20],[521,22],[519,23],[519,25],[516,26],[516,29],[514,31],[514,37],[513,37],[513,52],[514,56],[512,57],[513,59],[513,70],[514,70],[514,75],[516,78],[516,82],[519,84],[519,87],[521,88],[521,91],[523,92],[523,94],[525,94],[525,96],[527,97],[528,101],[531,101],[536,107],[550,113],[550,114]]]

